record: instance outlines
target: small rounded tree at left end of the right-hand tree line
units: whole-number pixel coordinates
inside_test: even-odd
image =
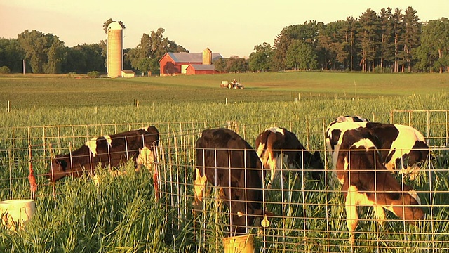
[[[250,54],[248,67],[250,71],[265,72],[273,68],[274,51],[270,44],[264,42],[262,45],[254,46],[255,52]]]

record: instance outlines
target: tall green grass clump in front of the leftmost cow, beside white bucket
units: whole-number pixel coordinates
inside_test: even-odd
[[[188,228],[176,237],[166,237],[170,214],[154,200],[152,175],[148,171],[134,174],[132,166],[124,169],[126,176],[102,175],[98,186],[87,179],[68,180],[59,185],[61,194],[55,200],[39,197],[25,229],[0,228],[0,251],[188,251]]]

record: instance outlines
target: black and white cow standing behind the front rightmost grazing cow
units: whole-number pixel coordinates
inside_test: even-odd
[[[429,146],[424,136],[412,126],[401,124],[384,124],[375,122],[340,122],[331,124],[326,130],[326,143],[333,155],[335,169],[335,154],[340,147],[340,136],[349,129],[365,127],[372,129],[379,138],[382,162],[391,172],[399,171],[410,180],[415,179],[420,167],[418,163],[429,157]]]

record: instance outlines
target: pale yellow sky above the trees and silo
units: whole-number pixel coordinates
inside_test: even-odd
[[[405,13],[408,6],[422,21],[449,17],[449,0],[0,0],[0,37],[17,39],[25,30],[37,30],[58,36],[65,46],[96,44],[106,39],[102,25],[112,18],[126,26],[124,48],[134,48],[142,34],[162,27],[163,37],[191,53],[207,47],[225,58],[246,58],[254,46],[273,45],[288,25],[358,18],[368,8]]]

